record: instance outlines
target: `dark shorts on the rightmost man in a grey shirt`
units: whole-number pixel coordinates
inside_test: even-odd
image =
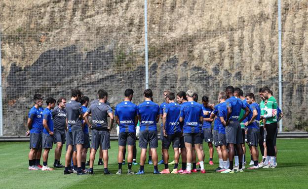
[[[97,150],[101,145],[102,150],[110,149],[110,133],[106,130],[92,130],[91,147]]]

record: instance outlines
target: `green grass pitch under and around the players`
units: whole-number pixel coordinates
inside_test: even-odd
[[[205,157],[208,158],[207,144],[203,144]],[[308,185],[308,139],[278,139],[278,167],[275,169],[247,170],[244,173],[220,174],[213,171],[217,167],[217,154],[214,152],[215,165],[206,165],[206,174],[191,175],[154,175],[153,165],[145,165],[145,175],[103,175],[103,166],[94,166],[95,175],[63,175],[63,169],[51,172],[28,170],[29,143],[2,142],[0,143],[0,188],[1,189],[93,189],[93,188],[306,188]],[[65,149],[65,148],[64,148]],[[140,149],[137,148],[137,157]],[[63,150],[61,162],[64,162]],[[170,150],[171,157],[173,156]],[[158,157],[161,156],[160,148]],[[49,155],[49,165],[52,167],[54,149]],[[111,142],[109,152],[111,172],[117,171],[117,141]],[[249,159],[248,152],[246,159]],[[95,159],[97,164],[98,157]],[[248,165],[247,165],[248,166]],[[181,167],[181,165],[179,166]],[[173,166],[169,166],[172,170]],[[133,165],[137,172],[139,165]],[[159,170],[163,165],[159,165]],[[123,172],[127,164],[123,165]]]

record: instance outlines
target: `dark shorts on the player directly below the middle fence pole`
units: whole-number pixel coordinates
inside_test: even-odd
[[[157,130],[142,130],[139,133],[139,148],[147,149],[158,147]]]

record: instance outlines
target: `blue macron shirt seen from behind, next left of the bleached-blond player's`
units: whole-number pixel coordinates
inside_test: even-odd
[[[165,129],[167,134],[181,132],[180,126],[181,106],[178,103],[171,102],[164,107],[164,113],[167,114]]]

